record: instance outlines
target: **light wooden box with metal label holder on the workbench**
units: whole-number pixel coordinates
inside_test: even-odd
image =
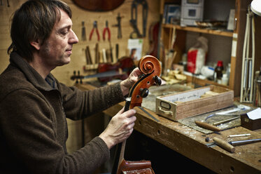
[[[156,113],[177,121],[233,105],[234,91],[220,86],[204,86],[156,98]]]

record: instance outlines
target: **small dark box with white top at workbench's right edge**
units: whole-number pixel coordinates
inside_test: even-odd
[[[241,115],[241,126],[251,131],[261,128],[261,109],[255,109],[251,112]]]

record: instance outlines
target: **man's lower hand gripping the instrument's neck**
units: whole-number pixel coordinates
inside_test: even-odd
[[[107,128],[99,137],[104,140],[109,149],[119,142],[123,142],[132,134],[134,121],[136,121],[135,109],[124,112],[122,108],[108,123]]]

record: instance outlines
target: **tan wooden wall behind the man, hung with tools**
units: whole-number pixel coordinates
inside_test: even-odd
[[[7,54],[8,46],[11,44],[10,40],[10,17],[14,11],[19,8],[26,0],[9,0],[10,6],[8,7],[7,1],[3,0],[3,5],[0,6],[0,73],[6,69],[9,63],[9,56]],[[92,12],[85,11],[83,8],[79,8],[73,4],[72,0],[64,0],[73,12],[73,31],[76,33],[79,39],[79,43],[73,45],[73,54],[71,55],[71,63],[62,67],[57,67],[52,71],[52,74],[62,83],[68,86],[72,86],[74,81],[71,81],[70,77],[73,75],[73,71],[80,70],[80,74],[83,73],[83,65],[86,65],[85,59],[85,48],[90,47],[90,54],[94,58],[94,46],[99,43],[99,50],[102,48],[109,48],[108,40],[104,41],[102,39],[102,32],[105,27],[105,22],[108,20],[108,27],[111,30],[111,46],[113,47],[113,54],[115,56],[115,44],[119,44],[119,58],[128,55],[127,53],[127,40],[129,39],[129,34],[134,31],[131,27],[129,20],[131,19],[131,5],[132,0],[125,0],[125,2],[113,11],[108,12]],[[148,2],[148,20],[146,25],[146,38],[143,39],[143,55],[149,50],[149,27],[153,23],[160,20],[160,0],[146,0]],[[138,28],[142,33],[142,6],[138,6]],[[122,17],[122,39],[118,39],[118,27],[112,27],[112,25],[117,24],[117,16],[120,13]],[[94,32],[92,40],[89,41],[89,34],[93,27],[94,20],[97,20],[97,27],[99,29],[100,41],[97,41],[97,35]],[[86,31],[86,41],[81,40],[82,32],[82,21],[85,22]],[[69,140],[67,142],[69,152],[73,152],[81,146],[80,138],[80,122],[69,121]]]

